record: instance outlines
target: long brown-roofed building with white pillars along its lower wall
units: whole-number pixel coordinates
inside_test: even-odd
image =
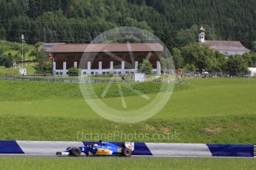
[[[53,74],[68,75],[76,67],[81,75],[128,75],[139,72],[140,63],[148,59],[153,73],[160,75],[161,44],[59,44],[50,51]]]

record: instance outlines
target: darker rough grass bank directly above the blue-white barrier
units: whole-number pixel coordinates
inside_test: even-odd
[[[134,124],[93,117],[95,115],[88,115],[87,119],[76,118],[75,114],[69,118],[1,115],[1,140],[256,143],[255,115],[152,119]]]

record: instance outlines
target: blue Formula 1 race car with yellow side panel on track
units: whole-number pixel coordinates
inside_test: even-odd
[[[116,155],[123,157],[131,157],[134,151],[134,142],[125,142],[121,146],[113,143],[106,143],[99,141],[98,144],[82,146],[82,147],[68,147],[64,152],[56,152],[57,156],[73,156],[79,157],[82,153],[86,156],[103,156]]]

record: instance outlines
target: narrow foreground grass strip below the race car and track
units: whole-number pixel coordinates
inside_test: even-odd
[[[11,165],[11,166],[10,166]],[[237,158],[0,158],[0,169],[255,169],[254,159]]]

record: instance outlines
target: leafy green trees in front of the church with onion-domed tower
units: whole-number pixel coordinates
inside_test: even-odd
[[[172,49],[175,69],[183,72],[226,72],[229,75],[249,72],[248,67],[256,67],[256,52],[246,52],[243,55],[225,55],[211,49],[207,44],[192,42],[185,47]],[[162,59],[163,69],[168,64]]]

